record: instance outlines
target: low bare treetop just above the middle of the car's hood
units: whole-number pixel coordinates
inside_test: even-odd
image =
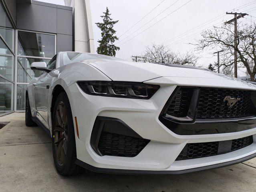
[[[134,58],[132,58],[135,61]],[[173,52],[164,45],[146,46],[144,54],[138,58],[139,62],[150,62],[150,63],[166,63],[166,64],[180,64],[180,65],[193,65],[196,66],[198,57],[193,52],[186,52],[180,54],[179,52]]]

